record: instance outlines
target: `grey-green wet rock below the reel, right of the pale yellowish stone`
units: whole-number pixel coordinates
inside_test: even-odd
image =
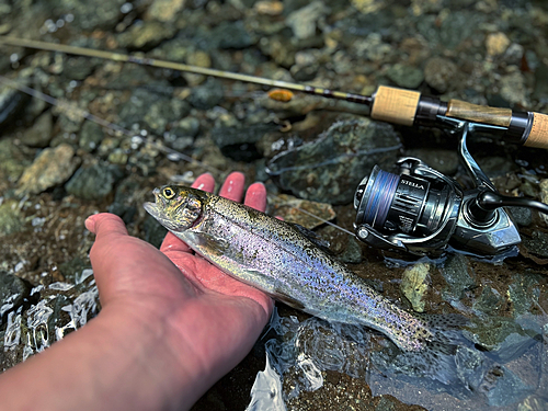
[[[463,254],[450,254],[441,269],[441,273],[447,283],[442,295],[447,301],[460,300],[466,292],[476,287],[476,282],[470,275],[468,260]]]

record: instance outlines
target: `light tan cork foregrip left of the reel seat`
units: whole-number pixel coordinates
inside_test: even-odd
[[[420,98],[418,91],[380,85],[375,94],[372,118],[411,126]]]

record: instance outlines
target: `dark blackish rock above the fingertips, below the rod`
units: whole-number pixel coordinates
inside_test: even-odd
[[[256,142],[265,134],[274,132],[274,124],[253,124],[243,127],[215,127],[212,129],[212,139],[219,147],[222,155],[236,161],[253,161],[260,159]]]

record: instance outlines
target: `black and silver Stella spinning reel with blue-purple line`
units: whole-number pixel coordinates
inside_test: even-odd
[[[356,237],[376,248],[419,255],[438,255],[449,244],[482,255],[510,250],[521,242],[521,237],[503,207],[528,207],[548,214],[548,205],[499,194],[470,156],[468,134],[498,132],[499,127],[444,116],[438,119],[453,133],[461,134],[459,156],[475,187],[464,190],[455,180],[412,157],[397,162],[399,174],[375,165],[354,195]]]

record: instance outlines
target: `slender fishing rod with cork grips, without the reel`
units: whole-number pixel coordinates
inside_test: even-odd
[[[548,115],[541,113],[517,112],[512,109],[471,104],[457,99],[443,102],[437,98],[421,95],[420,92],[414,90],[404,90],[387,85],[379,85],[373,95],[362,95],[288,81],[271,80],[262,77],[190,66],[181,62],[9,36],[0,36],[0,45],[60,52],[77,56],[99,57],[114,61],[135,62],[138,65],[165,68],[182,72],[279,88],[320,95],[328,99],[344,100],[368,106],[370,109],[369,115],[373,119],[404,126],[423,125],[444,127],[445,122],[441,121],[441,117],[473,122],[492,126],[486,127],[484,132],[498,135],[505,141],[526,147],[548,149]]]

